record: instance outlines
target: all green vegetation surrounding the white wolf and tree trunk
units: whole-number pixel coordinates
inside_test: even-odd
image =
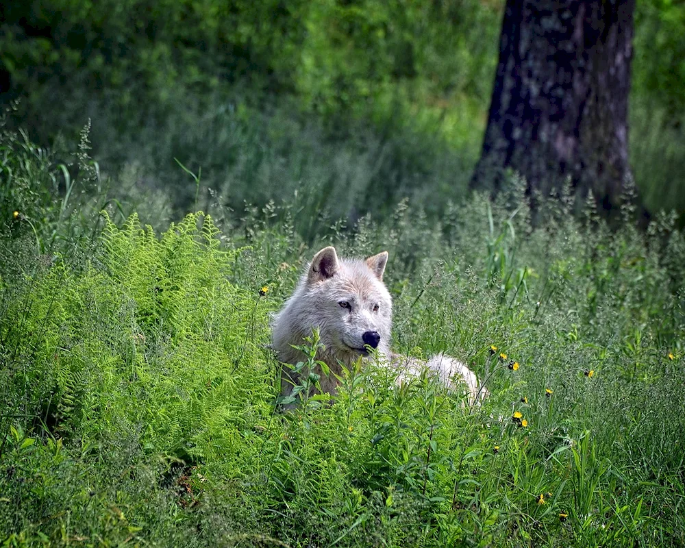
[[[685,546],[682,3],[636,3],[610,224],[469,191],[503,0],[5,4],[0,547]],[[277,409],[325,245],[482,406],[371,362]]]

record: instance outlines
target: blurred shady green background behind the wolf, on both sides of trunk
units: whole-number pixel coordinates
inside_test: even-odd
[[[1,97],[21,98],[11,123],[41,145],[73,142],[90,119],[92,155],[119,179],[119,199],[153,197],[157,216],[296,193],[329,219],[403,197],[442,214],[464,199],[481,152],[503,7],[3,3]],[[683,3],[637,2],[630,164],[650,214],[685,210],[684,29]],[[199,192],[174,159],[201,169]]]

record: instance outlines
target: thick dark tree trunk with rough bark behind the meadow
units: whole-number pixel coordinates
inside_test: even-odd
[[[507,168],[547,193],[567,177],[616,203],[628,163],[635,0],[507,0],[488,126],[472,187]]]

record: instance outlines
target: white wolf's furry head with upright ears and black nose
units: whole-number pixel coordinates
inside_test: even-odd
[[[383,284],[388,252],[366,258],[338,258],[334,247],[316,253],[292,297],[273,321],[279,360],[295,363],[291,345],[319,328],[329,366],[351,363],[369,348],[390,351],[393,303]]]

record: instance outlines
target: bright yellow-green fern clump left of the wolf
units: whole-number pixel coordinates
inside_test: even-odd
[[[101,256],[84,273],[58,263],[36,274],[3,317],[3,348],[31,363],[10,375],[30,393],[25,413],[85,444],[123,421],[142,428],[144,447],[177,456],[199,456],[212,425],[230,440],[259,414],[232,395],[258,393],[251,384],[266,374],[264,311],[225,281],[236,253],[218,248],[217,232],[208,217],[188,216],[160,240],[136,216],[122,229],[106,221]],[[162,394],[170,401],[155,403]]]

